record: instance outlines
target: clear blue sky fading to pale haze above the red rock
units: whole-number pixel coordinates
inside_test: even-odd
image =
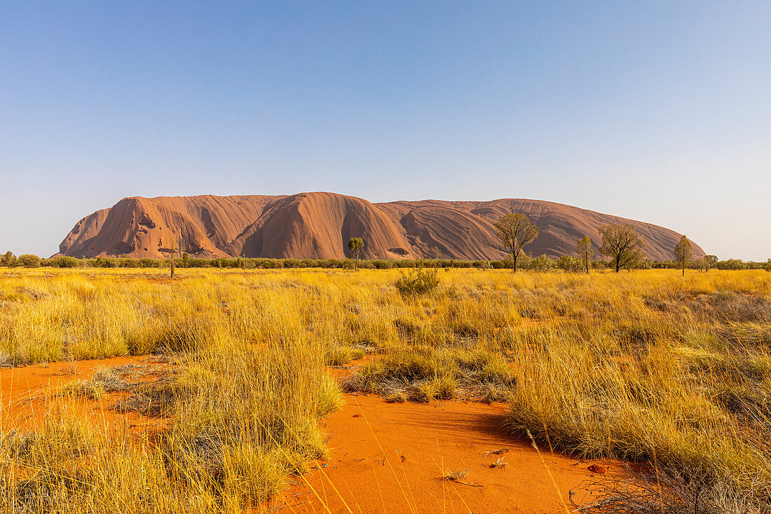
[[[766,260],[769,27],[767,1],[0,2],[0,250],[126,196],[335,191]]]

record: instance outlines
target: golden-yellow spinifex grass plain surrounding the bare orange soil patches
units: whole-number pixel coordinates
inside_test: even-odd
[[[317,421],[341,394],[325,364],[365,353],[376,357],[342,387],[507,401],[510,430],[555,450],[768,501],[771,273],[451,269],[435,292],[403,297],[395,270],[178,272],[0,270],[0,364],[180,364],[146,391],[167,398],[157,437],[53,413],[32,434],[4,429],[0,512],[261,505],[325,452]]]

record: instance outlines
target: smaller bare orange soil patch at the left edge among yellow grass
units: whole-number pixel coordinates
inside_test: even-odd
[[[105,394],[99,400],[56,397],[56,391],[69,382],[90,380],[102,367],[141,364],[147,371],[168,370],[169,364],[146,360],[146,357],[113,357],[102,360],[55,362],[22,367],[0,368],[0,427],[29,430],[42,426],[46,414],[71,411],[89,421],[95,428],[113,429],[128,423],[133,433],[163,424],[163,420],[145,418],[130,412],[120,414],[110,407],[126,397],[126,393]],[[74,373],[73,373],[74,372]],[[136,380],[153,380],[146,374]]]

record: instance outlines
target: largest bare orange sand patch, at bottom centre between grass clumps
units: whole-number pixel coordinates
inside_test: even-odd
[[[572,512],[571,489],[602,478],[591,465],[608,477],[625,474],[620,462],[539,453],[507,433],[506,409],[346,394],[345,405],[322,421],[328,459],[293,478],[269,512]],[[504,465],[491,467],[499,458]],[[459,471],[467,474],[443,479]],[[584,490],[572,497],[579,504],[590,498]]]

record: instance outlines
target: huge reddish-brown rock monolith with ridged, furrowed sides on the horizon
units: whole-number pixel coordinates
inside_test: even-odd
[[[502,259],[493,224],[522,212],[540,228],[527,247],[533,255],[575,255],[598,228],[629,223],[648,243],[651,259],[672,259],[680,234],[618,216],[555,204],[504,198],[493,201],[393,201],[372,204],[333,193],[289,196],[190,196],[123,198],[78,221],[59,255],[130,255],[160,258],[181,249],[202,257],[342,259],[348,239],[364,239],[364,259]],[[693,245],[699,257],[704,252]]]

